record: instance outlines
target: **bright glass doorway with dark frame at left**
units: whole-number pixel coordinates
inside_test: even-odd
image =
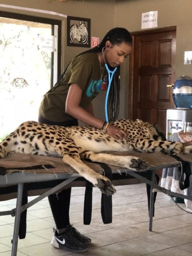
[[[61,21],[0,12],[0,141],[36,120],[43,94],[60,75]]]

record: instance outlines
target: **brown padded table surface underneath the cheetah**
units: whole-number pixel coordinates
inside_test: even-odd
[[[132,155],[142,158],[148,163],[147,169],[164,168],[179,165],[179,161],[170,155],[161,152],[147,153],[138,151],[105,152],[115,155]],[[192,154],[180,154],[183,160],[192,161]],[[84,161],[90,168],[102,172],[102,168],[97,163]],[[6,173],[12,171],[36,172],[36,173],[75,173],[76,171],[69,165],[63,163],[62,158],[54,156],[42,156],[25,153],[12,153],[0,159],[0,166],[5,167]],[[125,168],[109,165],[112,170],[123,170]],[[27,169],[27,167],[30,167]],[[127,170],[127,169],[126,169]]]

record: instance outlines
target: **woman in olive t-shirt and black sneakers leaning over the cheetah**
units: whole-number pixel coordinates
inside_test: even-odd
[[[93,114],[91,101],[99,93],[104,75],[104,64],[110,70],[117,67],[108,97],[109,120],[119,111],[119,65],[131,50],[131,35],[121,27],[112,28],[94,48],[74,57],[58,82],[43,97],[39,108],[39,121],[51,125],[77,125],[77,119],[96,128],[106,130],[108,135],[122,139],[125,132],[100,120]],[[90,238],[79,233],[69,222],[71,189],[64,189],[48,196],[56,224],[51,244],[54,247],[80,252],[87,249]]]

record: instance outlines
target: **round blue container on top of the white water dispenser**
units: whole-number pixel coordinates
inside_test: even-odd
[[[178,77],[173,86],[172,97],[176,107],[192,108],[192,78],[190,76]]]

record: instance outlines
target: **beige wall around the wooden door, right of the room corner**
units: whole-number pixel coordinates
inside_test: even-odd
[[[176,75],[192,77],[192,65],[184,65],[185,50],[192,50],[192,0],[116,0],[115,26],[141,30],[141,13],[158,11],[158,27],[176,25]],[[127,116],[128,80],[123,81],[124,115]],[[121,92],[122,92],[121,91]],[[123,101],[123,99],[122,99]]]

